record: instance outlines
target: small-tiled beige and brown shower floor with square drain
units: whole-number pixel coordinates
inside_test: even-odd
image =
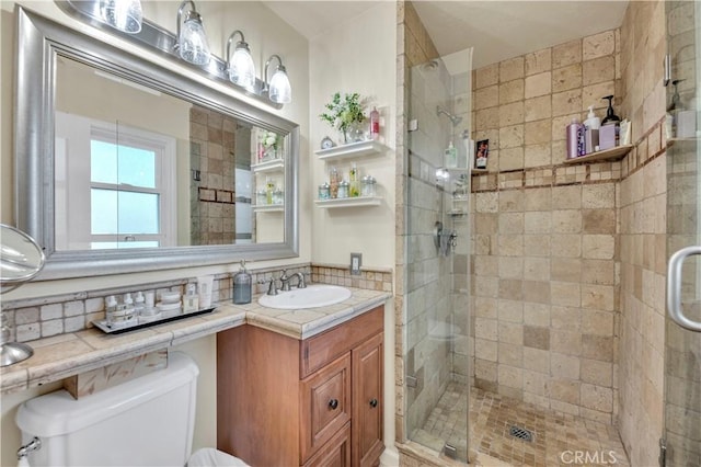
[[[467,386],[450,383],[413,441],[443,451],[447,441],[466,459]],[[629,466],[616,426],[542,409],[471,388],[472,448],[514,466]],[[513,425],[532,433],[532,442],[509,435]],[[487,465],[487,464],[485,464]]]

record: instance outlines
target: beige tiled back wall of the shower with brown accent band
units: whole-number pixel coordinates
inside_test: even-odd
[[[620,162],[564,166],[565,126],[616,93],[618,31],[475,70],[475,386],[611,422]],[[618,106],[617,106],[618,110]]]

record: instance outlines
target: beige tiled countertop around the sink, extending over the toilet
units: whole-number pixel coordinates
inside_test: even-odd
[[[26,342],[34,355],[0,368],[0,388],[2,394],[18,392],[246,323],[308,339],[383,305],[391,296],[387,292],[346,288],[352,292],[350,298],[327,307],[281,310],[263,307],[254,297],[248,305],[220,303],[209,314],[122,334],[90,328]]]

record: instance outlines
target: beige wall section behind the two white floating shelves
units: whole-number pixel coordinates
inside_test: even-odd
[[[350,264],[350,252],[363,253],[363,265],[394,267],[394,118],[395,105],[395,3],[379,2],[356,18],[340,21],[309,44],[309,151],[303,159],[311,164],[310,183],[300,193],[312,213],[314,238],[312,261]],[[334,92],[358,92],[377,105],[381,118],[381,141],[388,149],[380,155],[324,162],[313,153],[321,139],[338,140],[337,132],[319,118]],[[320,209],[313,205],[317,187],[329,181],[335,167],[347,180],[352,162],[360,176],[377,179],[377,207]]]

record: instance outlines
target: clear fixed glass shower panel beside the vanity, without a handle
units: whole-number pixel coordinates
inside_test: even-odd
[[[417,65],[409,81],[405,432],[467,462],[471,50]],[[458,167],[446,168],[451,143]]]

